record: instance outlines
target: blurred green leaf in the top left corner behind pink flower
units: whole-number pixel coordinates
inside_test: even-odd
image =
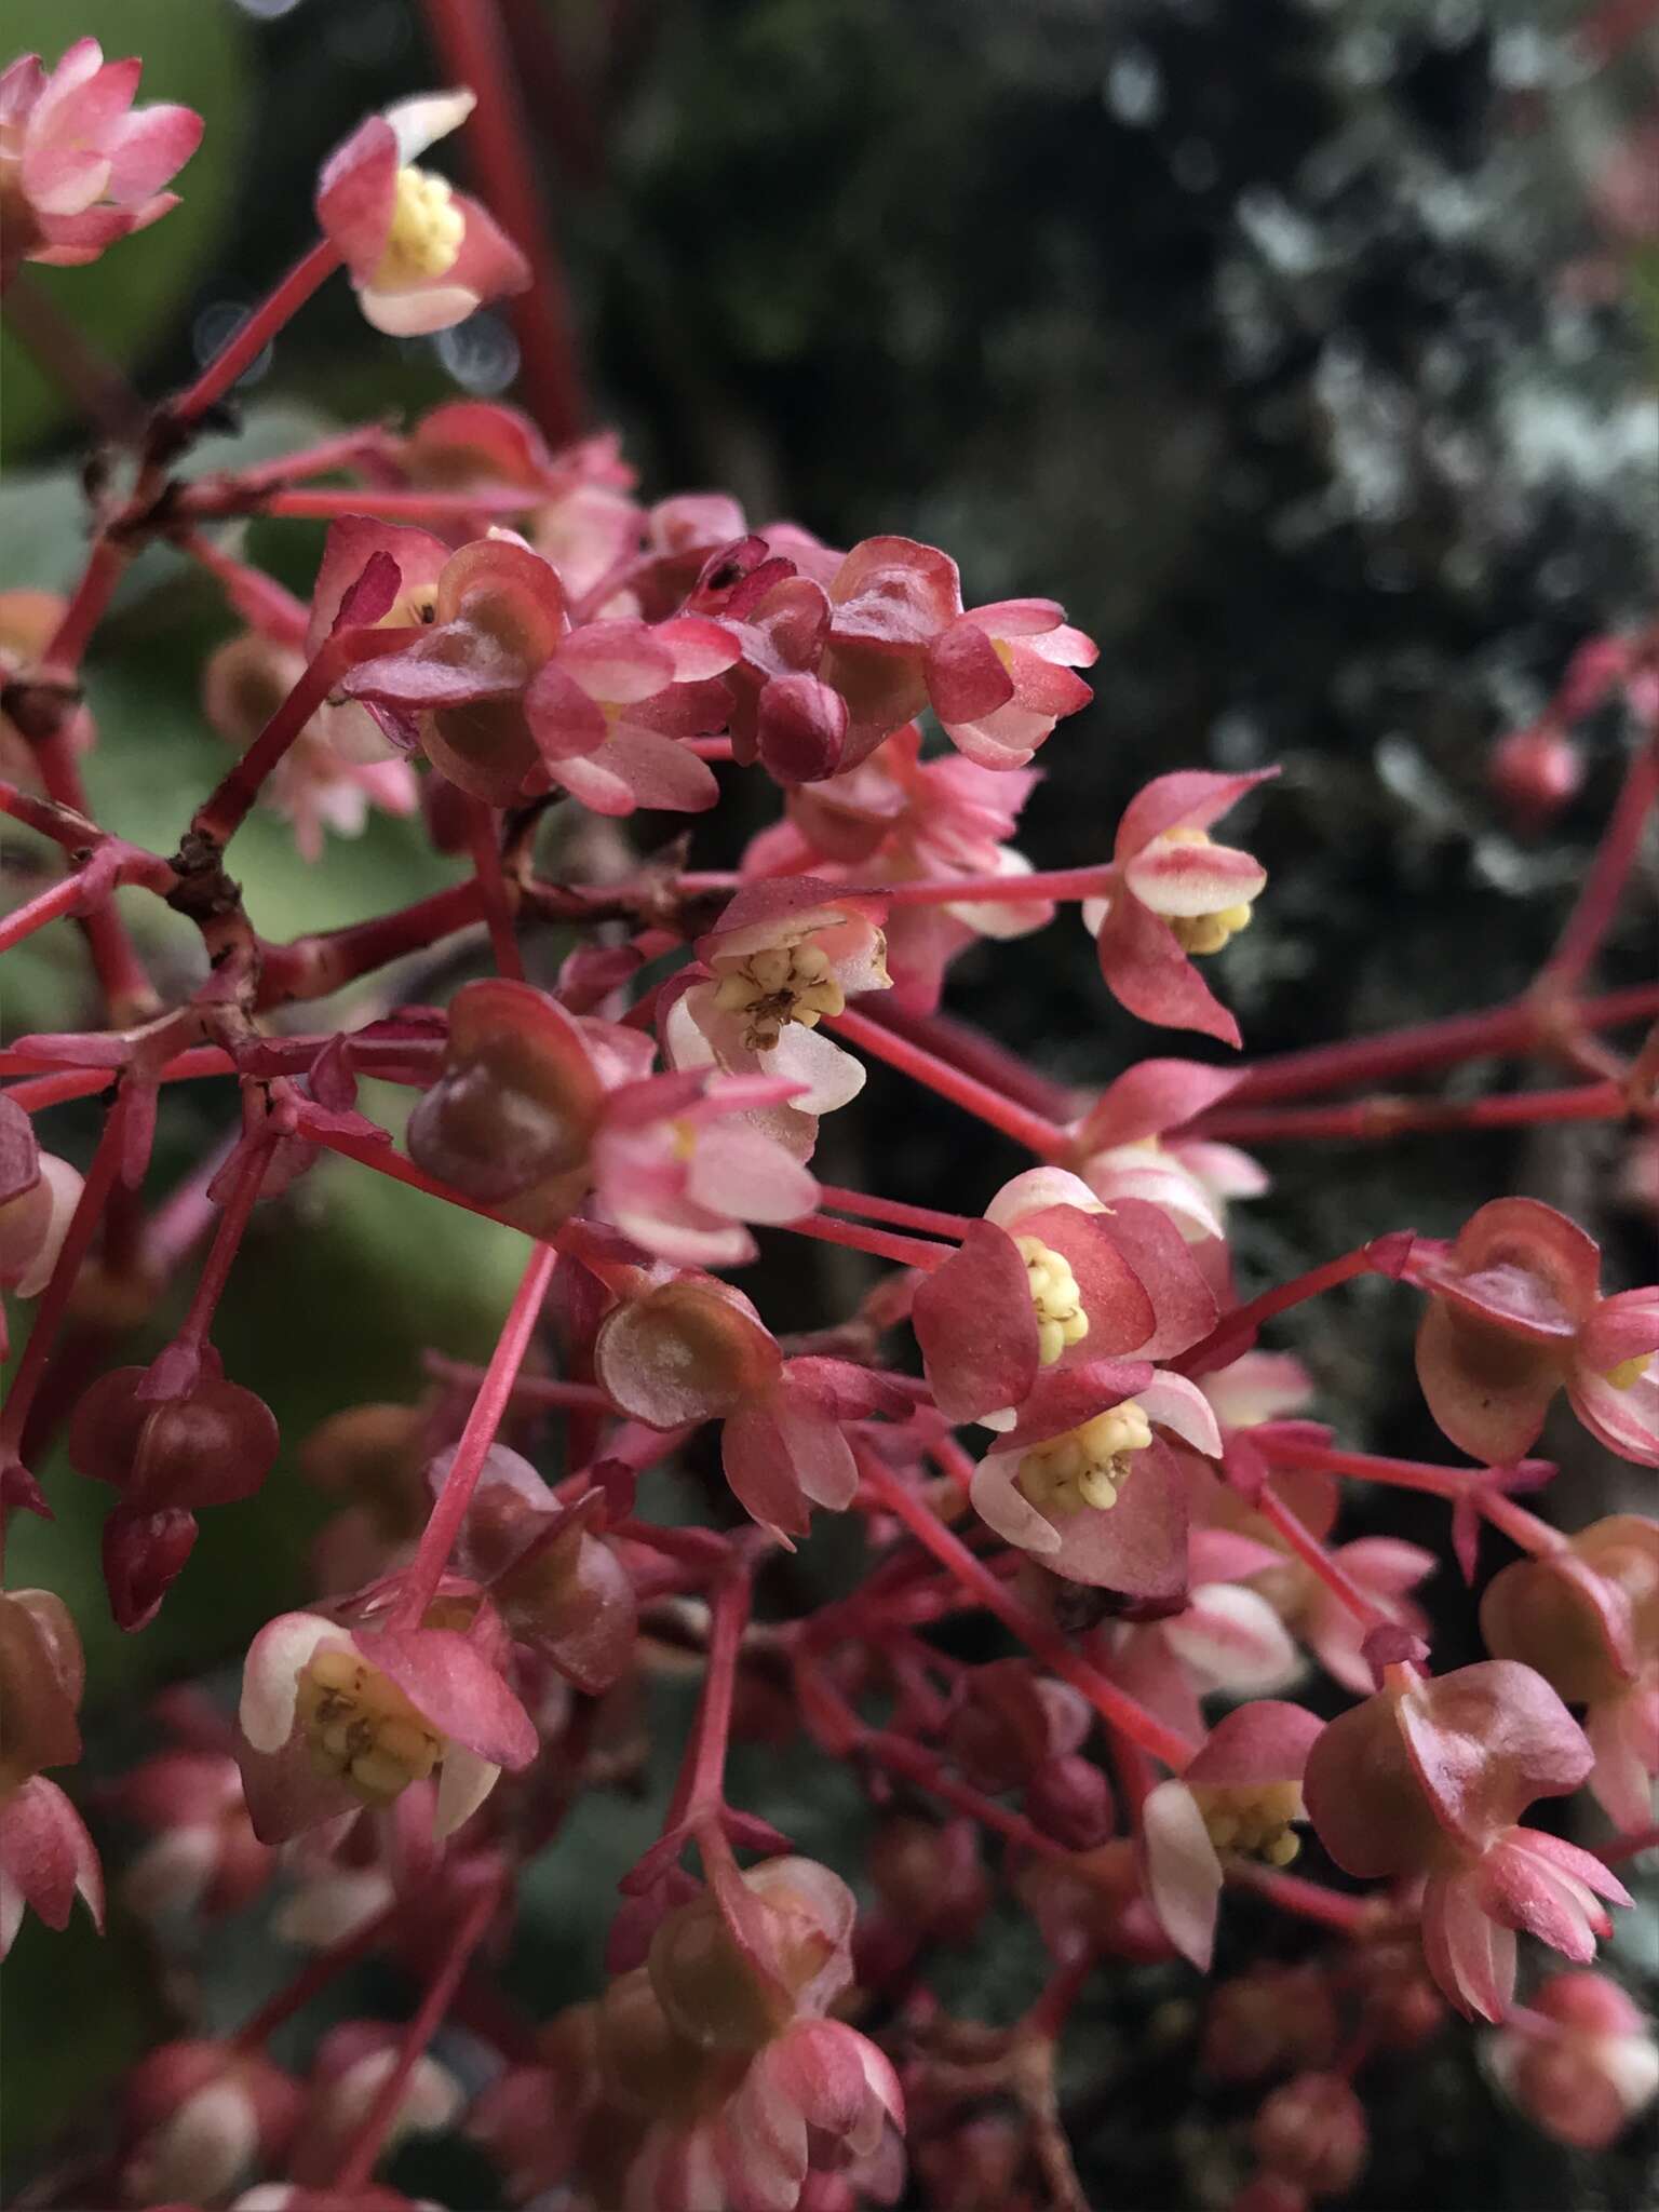
[[[122,239],[91,270],[31,268],[29,279],[82,336],[122,367],[139,367],[190,296],[223,234],[246,155],[248,27],[230,0],[9,0],[4,51],[49,64],[73,38],[102,40],[111,60],[144,55],[142,100],[181,100],[206,117],[201,146],[179,173],[179,206]],[[13,336],[0,336],[4,427],[0,451],[27,453],[62,422],[55,385]]]

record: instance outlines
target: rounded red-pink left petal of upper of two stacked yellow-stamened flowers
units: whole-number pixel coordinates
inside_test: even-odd
[[[975,1221],[911,1305],[933,1402],[947,1420],[978,1420],[1022,1405],[1037,1378],[1037,1316],[1020,1248]]]

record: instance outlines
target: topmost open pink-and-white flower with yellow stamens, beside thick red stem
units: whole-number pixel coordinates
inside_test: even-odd
[[[471,111],[471,93],[400,100],[358,124],[316,179],[316,221],[338,248],[363,314],[394,338],[449,330],[531,281],[518,246],[476,199],[414,166]]]

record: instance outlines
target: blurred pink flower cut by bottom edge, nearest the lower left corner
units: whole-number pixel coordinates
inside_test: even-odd
[[[288,2150],[305,2093],[263,2051],[175,2042],[122,2084],[122,2194],[210,2203]]]

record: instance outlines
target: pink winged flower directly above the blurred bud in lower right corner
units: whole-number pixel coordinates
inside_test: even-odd
[[[1517,1825],[1590,1765],[1584,1730],[1526,1666],[1489,1659],[1433,1679],[1389,1666],[1385,1688],[1314,1747],[1307,1809],[1349,1874],[1427,1878],[1429,1971],[1458,2011],[1502,2020],[1515,1929],[1588,1962],[1610,1933],[1597,1898],[1630,1902],[1599,1858]]]

